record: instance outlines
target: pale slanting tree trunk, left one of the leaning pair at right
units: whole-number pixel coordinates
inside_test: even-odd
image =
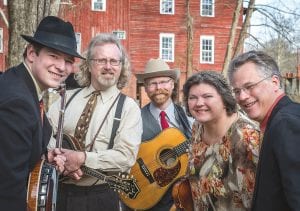
[[[234,52],[234,44],[235,44],[235,35],[236,35],[236,30],[237,26],[239,23],[239,17],[241,13],[241,9],[243,6],[243,0],[238,0],[237,5],[233,14],[233,19],[232,19],[232,24],[231,24],[231,30],[230,30],[230,39],[227,44],[227,49],[226,49],[226,54],[225,54],[225,59],[224,59],[224,65],[223,65],[223,70],[222,73],[226,76],[227,75],[227,68],[229,66],[229,62],[232,59],[232,55]]]

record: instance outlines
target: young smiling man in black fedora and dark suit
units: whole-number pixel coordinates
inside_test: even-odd
[[[76,39],[71,23],[45,17],[29,42],[24,61],[0,76],[0,206],[2,211],[27,210],[30,172],[43,155],[52,128],[40,100],[48,88],[58,87],[73,71]],[[64,170],[65,157],[58,149],[48,161]]]

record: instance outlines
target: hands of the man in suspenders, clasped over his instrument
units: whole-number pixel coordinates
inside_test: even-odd
[[[85,152],[69,149],[61,149],[61,152],[66,157],[65,170],[63,172],[63,175],[69,176],[75,180],[79,180],[83,175],[80,167],[85,162]]]

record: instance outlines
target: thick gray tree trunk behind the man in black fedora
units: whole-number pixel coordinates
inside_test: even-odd
[[[33,35],[39,22],[50,14],[50,8],[59,8],[59,2],[51,4],[51,0],[9,0],[7,3],[9,13],[8,67],[11,67],[22,61],[27,44],[20,35]],[[53,11],[56,11],[56,14],[58,12],[54,9]],[[52,15],[56,14],[52,13]]]

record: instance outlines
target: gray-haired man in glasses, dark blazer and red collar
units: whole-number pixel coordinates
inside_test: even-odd
[[[260,123],[263,137],[252,210],[300,210],[300,104],[284,94],[279,68],[264,52],[233,59],[228,78],[241,108]]]

